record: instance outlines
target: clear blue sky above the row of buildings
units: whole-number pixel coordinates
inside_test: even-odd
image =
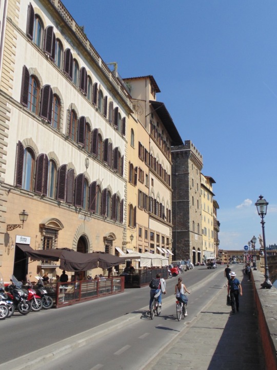
[[[64,0],[123,78],[153,75],[183,140],[204,158],[220,209],[220,248],[262,233],[277,244],[277,2]],[[259,247],[259,243],[257,243]]]

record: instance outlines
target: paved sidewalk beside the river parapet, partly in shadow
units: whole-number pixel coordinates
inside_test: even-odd
[[[144,369],[270,370],[264,367],[252,284],[241,269],[236,269],[236,278],[243,289],[240,312],[230,314],[223,281],[220,292],[191,322],[188,305],[187,327]]]

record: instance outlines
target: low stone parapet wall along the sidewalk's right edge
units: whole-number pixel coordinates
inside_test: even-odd
[[[254,290],[254,302],[256,305],[257,318],[263,352],[265,355],[266,369],[277,368],[277,289],[261,288],[265,281],[260,271],[252,270],[252,284]]]

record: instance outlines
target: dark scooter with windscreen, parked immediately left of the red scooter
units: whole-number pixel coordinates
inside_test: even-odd
[[[12,300],[14,308],[22,315],[27,315],[32,309],[31,303],[26,301],[28,294],[22,289],[23,283],[19,282],[14,275],[12,284],[5,287],[8,297]]]

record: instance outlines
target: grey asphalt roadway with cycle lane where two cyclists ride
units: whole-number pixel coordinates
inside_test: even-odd
[[[36,369],[143,368],[146,361],[151,360],[205,307],[225,281],[223,266],[215,270],[200,266],[180,276],[192,291],[189,315],[181,322],[176,320],[173,295],[177,278],[167,280],[162,314],[154,320],[143,315],[148,308],[149,287],[127,289],[122,294],[60,309],[31,312],[27,316],[16,313],[0,322],[0,364],[29,353],[30,357],[39,356],[41,348],[47,350],[50,346],[50,350],[65,339],[72,343],[89,334],[91,339],[80,348],[74,348],[64,357],[62,354],[54,356],[56,359],[51,363],[36,365]]]

